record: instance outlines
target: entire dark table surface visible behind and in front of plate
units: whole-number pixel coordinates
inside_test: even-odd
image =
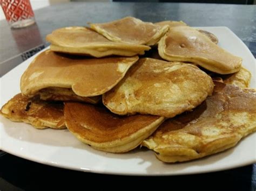
[[[72,2],[35,11],[36,24],[11,30],[0,21],[0,76],[48,44],[46,34],[65,26],[85,26],[87,22],[107,22],[125,16],[146,22],[183,20],[190,26],[227,26],[244,41],[256,57],[256,6],[188,3],[84,3]],[[92,182],[99,183],[92,183]],[[207,190],[256,190],[256,164],[227,171],[185,176],[114,176],[70,171],[46,166],[0,153],[0,190],[46,190],[51,188],[118,188],[116,182],[133,188],[133,182],[203,188]],[[101,182],[101,183],[100,183]],[[180,182],[184,182],[180,184]],[[87,185],[88,184],[88,185]],[[209,186],[211,185],[211,186]],[[222,185],[222,186],[220,186]]]

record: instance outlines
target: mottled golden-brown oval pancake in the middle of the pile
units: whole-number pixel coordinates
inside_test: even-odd
[[[115,114],[174,117],[211,95],[210,76],[194,65],[143,58],[133,65],[103,103]]]

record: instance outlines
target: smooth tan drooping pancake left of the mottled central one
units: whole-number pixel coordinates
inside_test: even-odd
[[[48,49],[25,70],[21,91],[33,96],[44,88],[60,87],[72,88],[82,97],[101,95],[114,87],[137,60],[138,56],[88,59]]]

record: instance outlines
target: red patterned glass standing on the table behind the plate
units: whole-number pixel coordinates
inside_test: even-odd
[[[0,0],[4,15],[12,28],[20,28],[35,23],[29,0]]]

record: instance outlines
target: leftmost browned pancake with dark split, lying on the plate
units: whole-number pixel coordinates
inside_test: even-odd
[[[65,129],[62,102],[46,102],[38,97],[17,94],[3,105],[0,114],[14,122],[25,122],[37,129]]]

